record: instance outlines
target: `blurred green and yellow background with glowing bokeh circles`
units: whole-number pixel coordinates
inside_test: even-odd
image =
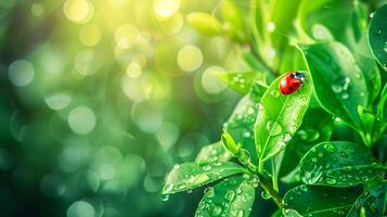
[[[192,216],[159,191],[240,98],[212,73],[240,50],[186,25],[218,3],[1,0],[0,216]]]

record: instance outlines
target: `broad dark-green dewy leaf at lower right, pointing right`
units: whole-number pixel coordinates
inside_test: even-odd
[[[378,166],[365,146],[345,141],[322,142],[311,149],[299,164],[305,183],[339,188],[371,180],[380,175]]]

